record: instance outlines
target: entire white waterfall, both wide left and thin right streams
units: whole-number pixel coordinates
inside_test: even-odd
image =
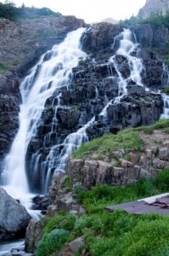
[[[65,172],[65,165],[70,154],[82,143],[88,142],[87,128],[97,124],[99,120],[107,120],[108,108],[110,105],[121,102],[122,97],[127,95],[128,86],[131,83],[133,88],[137,88],[136,90],[144,91],[144,84],[141,80],[143,64],[142,60],[137,57],[137,40],[131,31],[124,30],[115,38],[114,46],[118,44],[118,47],[115,55],[110,57],[108,64],[109,78],[113,84],[118,84],[118,96],[110,100],[107,98],[103,109],[97,114],[97,119],[93,116],[82,126],[81,115],[76,131],[70,132],[67,136],[60,136],[61,138],[57,137],[59,108],[70,109],[69,106],[62,105],[62,93],[64,90],[71,93],[72,68],[77,66],[79,60],[84,60],[87,56],[79,47],[82,32],[84,32],[82,28],[76,32],[70,32],[62,44],[55,45],[53,49],[42,55],[40,61],[20,85],[23,99],[20,106],[20,129],[4,161],[3,171],[3,185],[14,197],[20,198],[20,193],[23,195],[29,193],[30,184],[27,184],[25,168],[30,171],[29,175],[34,188],[37,188],[37,181],[41,180],[38,189],[42,193],[47,193],[54,172]],[[123,56],[128,65],[130,73],[127,77],[121,73],[119,56]],[[111,67],[115,68],[114,75]],[[98,99],[99,90],[97,85],[94,86],[95,97]],[[29,151],[28,148],[31,147],[31,140],[36,138],[37,126],[43,125],[44,110],[48,106],[48,101],[53,111],[53,118],[50,120],[51,130],[42,138],[42,146],[39,149],[35,148],[34,154],[31,155],[30,165],[26,166],[25,156]],[[46,110],[48,111],[48,108]],[[45,156],[42,156],[42,148],[47,149]],[[17,189],[16,195],[14,195],[15,188]]]

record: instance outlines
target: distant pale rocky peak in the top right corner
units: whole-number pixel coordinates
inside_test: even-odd
[[[168,0],[146,0],[144,7],[139,10],[138,16],[147,18],[151,13],[155,12],[161,12],[165,15],[168,8]]]

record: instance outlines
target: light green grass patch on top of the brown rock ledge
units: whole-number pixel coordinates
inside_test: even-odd
[[[84,158],[87,154],[95,151],[99,154],[106,154],[111,157],[112,151],[118,148],[135,148],[141,150],[144,147],[143,141],[140,139],[138,132],[134,129],[119,131],[115,134],[105,134],[103,137],[93,139],[92,142],[82,144],[72,156],[74,158]]]

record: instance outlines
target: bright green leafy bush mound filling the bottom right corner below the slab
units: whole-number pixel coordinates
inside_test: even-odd
[[[110,255],[144,256],[155,255],[161,247],[168,246],[169,218],[140,221],[126,236],[121,239],[118,247]],[[149,253],[149,254],[148,254]]]

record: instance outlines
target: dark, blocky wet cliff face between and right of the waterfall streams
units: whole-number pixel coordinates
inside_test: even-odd
[[[146,33],[146,26],[132,26],[132,31],[138,36],[140,47],[138,52],[133,52],[136,57],[143,57],[144,69],[142,78],[144,85],[153,90],[161,89],[161,75],[163,73],[163,60],[150,50],[153,44],[154,34],[160,34],[153,27],[149,27],[152,38]],[[140,32],[138,34],[138,31]],[[166,38],[169,33],[166,30],[166,36],[161,43],[166,44]],[[41,123],[37,127],[37,134],[32,137],[28,146],[26,161],[27,174],[32,184],[31,189],[42,189],[42,172],[39,172],[39,179],[35,180],[31,175],[31,160],[36,152],[41,153],[38,166],[46,161],[49,150],[54,145],[59,145],[54,151],[54,160],[56,161],[59,153],[63,149],[65,137],[70,133],[76,132],[87,124],[95,116],[95,122],[87,128],[87,137],[89,140],[94,137],[100,137],[104,133],[116,132],[121,129],[138,126],[150,125],[161,116],[163,102],[159,94],[146,92],[143,87],[135,84],[132,80],[127,83],[127,96],[121,99],[118,104],[110,104],[107,108],[107,117],[100,116],[102,109],[108,102],[113,101],[119,94],[118,84],[112,77],[117,77],[117,72],[110,56],[115,54],[119,47],[115,41],[115,36],[121,32],[118,26],[106,23],[100,23],[88,28],[82,35],[82,49],[87,52],[86,61],[80,61],[78,67],[73,69],[73,79],[69,85],[69,90],[62,90],[60,97],[60,107],[55,113],[54,109],[58,104],[57,96],[61,91],[57,91],[54,96],[46,102],[46,108],[42,113]],[[146,38],[146,43],[144,42]],[[115,44],[114,44],[115,43]],[[114,48],[112,45],[114,44]],[[161,46],[158,45],[160,48]],[[128,78],[130,69],[127,58],[121,55],[115,56],[115,63],[120,68],[123,78]],[[52,128],[54,114],[58,123],[55,131]],[[48,139],[47,139],[48,134]],[[45,147],[44,147],[45,144]]]

